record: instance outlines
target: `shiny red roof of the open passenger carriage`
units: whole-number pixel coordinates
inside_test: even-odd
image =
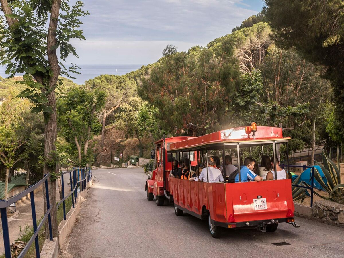
[[[167,151],[177,150],[207,150],[234,148],[237,144],[240,147],[260,146],[275,143],[288,142],[290,137],[283,137],[282,128],[257,126],[255,138],[253,132],[246,133],[245,127],[237,127],[221,130],[200,137],[174,142],[168,144]]]

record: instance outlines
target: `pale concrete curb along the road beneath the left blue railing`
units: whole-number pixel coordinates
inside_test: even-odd
[[[78,193],[77,203],[74,205],[74,208],[71,208],[66,214],[66,220],[62,220],[60,225],[58,225],[58,244],[57,237],[53,238],[53,241],[50,241],[50,239],[45,239],[41,251],[42,258],[57,258],[59,249],[61,249],[61,251],[63,250],[65,244],[67,243],[68,236],[71,234],[76,219],[80,213],[81,204],[85,201],[88,188],[91,186],[92,180],[86,184],[86,189],[83,192]]]

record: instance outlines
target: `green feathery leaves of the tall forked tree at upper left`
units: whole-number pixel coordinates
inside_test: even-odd
[[[75,56],[75,47],[69,43],[71,39],[85,39],[79,29],[82,22],[80,17],[88,14],[82,10],[83,3],[77,1],[69,6],[69,0],[60,4],[61,13],[57,19],[56,44],[47,50],[48,24],[51,1],[9,1],[12,14],[5,15],[15,19],[9,28],[6,19],[0,18],[0,49],[2,50],[1,65],[6,65],[6,74],[13,77],[15,74],[24,73],[22,84],[27,88],[19,94],[34,103],[32,111],[49,114],[52,107],[48,105],[48,95],[61,83],[56,84],[54,74],[47,53],[59,49],[62,62],[66,61],[69,54]],[[65,67],[62,62],[60,74],[70,77],[75,73],[77,66]],[[49,116],[45,115],[46,118]]]

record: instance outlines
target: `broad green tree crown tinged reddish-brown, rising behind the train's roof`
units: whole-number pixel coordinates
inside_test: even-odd
[[[159,109],[155,119],[172,135],[201,135],[226,116],[240,75],[230,41],[211,49],[165,56],[142,78],[139,95]]]

